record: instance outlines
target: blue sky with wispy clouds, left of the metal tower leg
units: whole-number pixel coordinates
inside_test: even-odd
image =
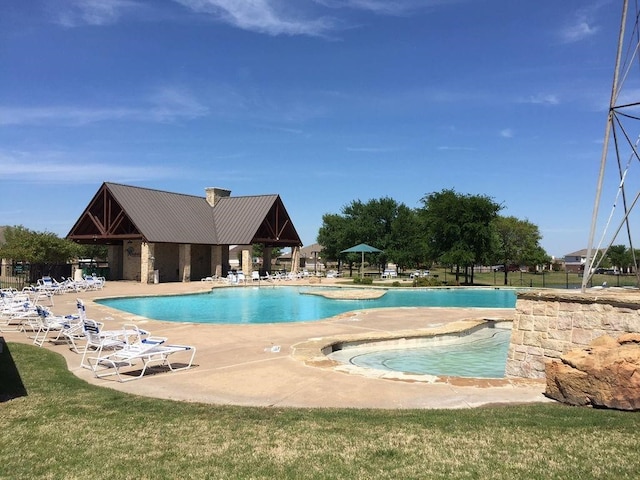
[[[102,182],[353,200],[454,188],[585,248],[621,3],[8,0],[0,224],[66,235]]]

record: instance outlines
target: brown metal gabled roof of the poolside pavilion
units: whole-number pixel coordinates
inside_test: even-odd
[[[138,234],[152,243],[301,245],[279,195],[222,197],[211,207],[206,197],[110,182],[96,193],[69,238],[122,237],[122,231],[94,227],[96,223],[118,224],[117,219],[110,218],[111,210],[102,207],[104,196],[115,201]],[[96,215],[101,218],[94,221]]]

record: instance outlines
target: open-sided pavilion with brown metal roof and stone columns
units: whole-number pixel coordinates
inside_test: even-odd
[[[105,182],[67,238],[107,245],[109,278],[142,283],[224,277],[232,245],[247,246],[241,259],[247,276],[253,244],[264,246],[267,269],[271,248],[299,252],[302,242],[279,195],[205,192],[198,197]]]

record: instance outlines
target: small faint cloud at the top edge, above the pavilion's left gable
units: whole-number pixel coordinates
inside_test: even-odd
[[[56,5],[55,21],[64,27],[111,25],[141,6],[134,0],[69,0],[66,7]]]

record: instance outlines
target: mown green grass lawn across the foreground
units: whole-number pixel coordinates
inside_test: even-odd
[[[0,379],[0,397],[16,395],[0,403],[2,479],[640,478],[639,413],[181,403],[89,385],[13,343]]]

